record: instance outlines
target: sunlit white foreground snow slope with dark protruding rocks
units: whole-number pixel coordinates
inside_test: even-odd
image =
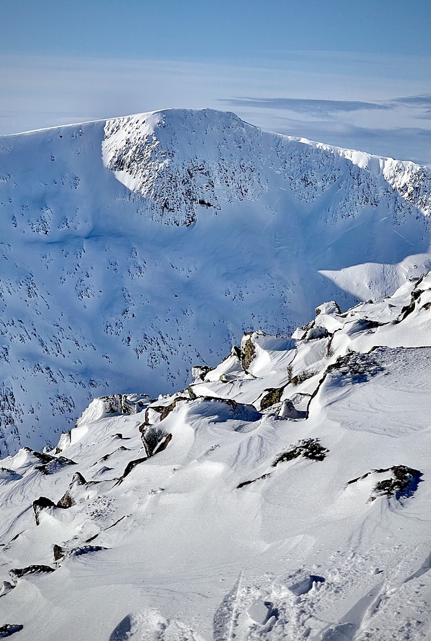
[[[0,624],[20,641],[429,638],[430,337],[428,274],[320,305],[294,338],[247,334],[186,390],[95,399],[54,450],[1,460]]]

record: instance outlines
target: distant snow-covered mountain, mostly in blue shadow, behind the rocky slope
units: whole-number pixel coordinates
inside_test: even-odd
[[[430,269],[430,169],[168,110],[0,138],[0,451]],[[160,224],[164,223],[164,224]]]

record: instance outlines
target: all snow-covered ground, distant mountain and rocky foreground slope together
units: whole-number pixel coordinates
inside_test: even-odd
[[[0,638],[431,641],[429,167],[166,110],[0,213]]]

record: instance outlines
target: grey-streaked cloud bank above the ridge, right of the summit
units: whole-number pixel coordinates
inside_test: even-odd
[[[266,117],[267,128],[279,133],[419,164],[431,162],[431,95],[426,93],[375,101],[243,96],[220,103],[255,124]]]

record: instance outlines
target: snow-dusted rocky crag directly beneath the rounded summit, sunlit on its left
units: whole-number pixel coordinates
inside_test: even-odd
[[[186,134],[191,157],[184,157],[175,131],[182,117],[193,122],[194,135]],[[211,109],[115,118],[105,125],[104,162],[144,199],[155,220],[189,226],[201,207],[217,211],[224,202],[256,200],[266,191],[251,162],[259,139],[259,130],[235,114]]]

